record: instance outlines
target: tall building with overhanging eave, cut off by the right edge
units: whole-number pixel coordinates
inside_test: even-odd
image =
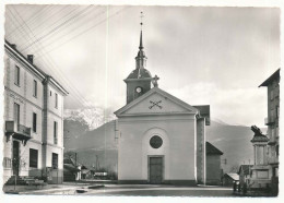
[[[268,165],[272,189],[277,192],[279,186],[279,117],[280,117],[280,69],[269,76],[259,87],[268,87]]]

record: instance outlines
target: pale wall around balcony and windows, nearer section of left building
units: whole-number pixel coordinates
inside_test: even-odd
[[[14,84],[15,65],[20,68],[20,85]],[[33,95],[33,83],[37,81],[37,96]],[[32,139],[24,145],[20,143],[21,170],[20,176],[29,176],[29,171],[38,174],[42,169],[42,141],[43,141],[43,84],[42,79],[33,74],[22,62],[5,52],[4,56],[4,121],[14,120],[14,103],[20,105],[20,124],[26,128],[33,127],[33,112],[37,114],[36,132],[31,130]],[[4,129],[5,130],[5,129]],[[3,132],[5,134],[5,132]],[[3,157],[4,159],[13,158],[12,145],[13,138],[7,141],[3,136]],[[38,167],[29,168],[29,148],[38,150]],[[3,182],[5,182],[12,174],[12,166],[3,167]],[[35,175],[35,174],[34,174]]]

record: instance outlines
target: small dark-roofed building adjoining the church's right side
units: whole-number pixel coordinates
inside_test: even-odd
[[[206,184],[221,184],[223,170],[221,168],[221,152],[210,142],[206,142]]]

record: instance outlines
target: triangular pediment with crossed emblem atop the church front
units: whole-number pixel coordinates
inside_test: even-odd
[[[161,88],[153,87],[151,91],[117,110],[115,114],[117,117],[122,117],[197,112],[198,110],[194,107]]]

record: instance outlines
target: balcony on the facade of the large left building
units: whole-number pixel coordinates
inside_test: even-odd
[[[5,135],[7,142],[10,140],[10,136],[13,136],[13,139],[22,141],[24,145],[32,139],[31,128],[17,124],[15,121],[5,121]]]

